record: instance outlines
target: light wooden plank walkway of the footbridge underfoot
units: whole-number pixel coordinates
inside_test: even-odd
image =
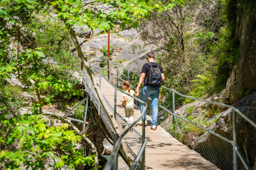
[[[101,89],[107,100],[114,106],[114,88],[105,79],[102,79]],[[121,107],[122,100],[122,93],[117,91],[117,112],[124,117],[124,108]],[[137,108],[134,110],[134,120],[139,116],[140,111]],[[146,169],[218,169],[200,154],[178,142],[160,126],[157,126],[156,130],[151,130],[151,118],[147,116],[147,120]],[[137,125],[135,128],[142,132],[142,126]]]

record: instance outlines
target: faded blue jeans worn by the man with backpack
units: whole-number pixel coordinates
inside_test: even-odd
[[[146,102],[146,98],[148,98],[149,96],[151,97],[151,104],[152,104],[152,110],[153,110],[151,125],[156,125],[156,122],[157,122],[159,92],[160,92],[159,87],[144,86],[142,88],[142,92],[140,95],[140,99],[144,102]],[[139,107],[142,113],[143,111],[142,103],[139,103]],[[146,113],[145,113],[145,123],[146,123]]]

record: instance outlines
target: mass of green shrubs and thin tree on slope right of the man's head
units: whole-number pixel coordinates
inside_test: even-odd
[[[236,16],[234,11],[238,6],[232,0],[221,0],[212,4],[215,6],[212,11],[198,8],[209,2],[185,1],[184,7],[174,6],[173,11],[149,13],[146,22],[141,23],[142,38],[164,51],[156,57],[164,67],[164,86],[198,98],[207,98],[225,88],[240,55],[240,42],[235,40],[234,24],[229,21],[230,13]],[[234,10],[229,9],[232,5]],[[196,11],[201,23],[198,30],[193,30],[186,23],[194,21],[191,18]],[[161,104],[168,106],[172,94],[162,90],[161,96],[164,99]],[[176,101],[181,105],[193,100],[176,98]]]

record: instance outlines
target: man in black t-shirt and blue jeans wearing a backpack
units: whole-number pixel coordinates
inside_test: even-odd
[[[142,66],[141,76],[139,77],[139,84],[135,93],[139,92],[139,87],[142,85],[144,81],[144,87],[142,88],[142,92],[140,95],[140,99],[142,101],[146,101],[146,98],[151,97],[151,105],[152,105],[152,121],[151,121],[151,129],[156,130],[157,123],[157,114],[158,114],[158,101],[159,101],[159,87],[161,86],[161,82],[164,81],[164,72],[163,68],[156,64],[154,61],[155,54],[154,52],[149,52],[146,54],[146,58],[148,62]],[[140,110],[142,113],[143,106],[139,103]],[[142,125],[142,121],[139,123]],[[145,113],[145,125],[146,122],[146,113]]]

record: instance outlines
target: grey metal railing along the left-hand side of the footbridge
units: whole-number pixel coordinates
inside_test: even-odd
[[[120,91],[124,94],[127,94],[126,92],[122,91],[122,89],[119,89],[117,86],[115,86],[114,84],[112,84],[112,82],[110,82],[106,77],[104,77],[100,71],[96,68],[96,67],[93,67],[92,65],[90,65],[90,68],[92,70],[92,72],[95,72],[95,74],[98,74],[99,76],[99,86],[100,86],[100,89],[101,89],[101,79],[104,78],[105,81],[107,81],[113,88],[114,88],[114,106],[112,106],[110,104],[109,101],[107,101],[107,98],[106,101],[107,103],[110,105],[110,107],[113,109],[114,111],[114,118],[119,118],[121,119],[122,121],[124,121],[124,123],[126,123],[127,125],[129,125],[129,123],[127,123],[127,120],[125,120],[124,118],[122,118],[122,116],[117,113],[117,91]],[[134,98],[134,100],[138,101],[139,103],[142,103],[143,107],[144,107],[144,110],[142,112],[142,115],[137,118],[137,120],[134,121],[134,123],[132,123],[131,125],[129,125],[125,130],[124,132],[122,132],[122,134],[120,134],[119,136],[117,134],[114,133],[114,128],[113,127],[110,127],[112,125],[110,125],[110,120],[108,120],[106,117],[106,113],[104,113],[104,109],[102,108],[102,106],[100,105],[100,98],[97,98],[97,96],[95,95],[95,91],[92,87],[92,80],[90,79],[90,77],[87,75],[87,72],[85,71],[85,69],[83,70],[83,84],[85,86],[85,91],[87,92],[87,94],[90,95],[90,98],[92,98],[92,102],[95,104],[95,108],[97,108],[98,110],[98,113],[100,114],[100,116],[102,117],[102,120],[103,122],[105,123],[105,125],[108,128],[108,131],[110,132],[110,134],[112,135],[112,138],[114,139],[114,149],[113,149],[113,152],[110,156],[110,161],[107,162],[106,166],[105,166],[105,169],[117,169],[117,164],[118,164],[118,159],[117,159],[117,156],[119,154],[119,147],[121,145],[121,141],[122,140],[125,140],[124,138],[126,137],[126,135],[131,132],[130,130],[133,129],[133,132],[137,133],[137,135],[139,135],[139,137],[141,137],[142,140],[138,140],[138,141],[142,141],[142,146],[139,148],[139,152],[137,154],[133,154],[132,156],[134,156],[134,164],[132,165],[131,169],[135,169],[135,168],[138,168],[138,163],[141,160],[141,164],[140,164],[140,167],[139,169],[144,169],[144,164],[145,164],[145,147],[146,147],[146,138],[145,138],[145,118],[144,118],[144,113],[146,111],[146,108],[147,108],[147,105],[145,102],[141,101],[139,98],[136,98],[134,96],[131,96],[130,94],[127,94],[128,96],[131,96],[132,98]],[[134,125],[136,125],[139,120],[142,120],[143,122],[143,125],[142,125],[142,134],[139,133],[136,129],[134,129]],[[128,141],[129,142],[129,141]],[[129,145],[128,145],[129,147]],[[131,148],[129,148],[130,151],[132,151]]]

